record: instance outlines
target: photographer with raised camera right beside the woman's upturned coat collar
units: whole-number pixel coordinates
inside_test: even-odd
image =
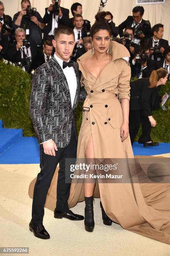
[[[136,54],[139,54],[140,46],[134,42],[134,28],[127,27],[124,30],[124,36],[122,38],[123,45],[128,49],[130,56],[134,59]]]

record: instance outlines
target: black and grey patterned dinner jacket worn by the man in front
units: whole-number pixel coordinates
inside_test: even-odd
[[[76,121],[74,110],[86,97],[80,95],[80,77],[78,64],[74,62],[77,79],[76,96],[73,108],[69,86],[61,66],[53,56],[50,61],[38,67],[33,74],[33,85],[30,95],[30,116],[36,131],[38,143],[53,139],[56,146],[65,148],[71,138],[71,124]]]

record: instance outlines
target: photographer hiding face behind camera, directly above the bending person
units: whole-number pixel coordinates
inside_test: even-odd
[[[150,47],[141,45],[140,54],[137,54],[132,60],[132,77],[150,77],[151,72],[157,68],[157,61],[150,59]]]

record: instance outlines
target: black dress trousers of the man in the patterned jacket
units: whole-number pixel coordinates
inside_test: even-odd
[[[70,175],[70,169],[67,168],[66,170],[65,160],[66,158],[73,158],[71,164],[75,164],[77,140],[73,123],[69,145],[66,148],[57,148],[58,151],[55,151],[56,156],[44,154],[42,145],[43,144],[40,145],[41,172],[37,175],[33,192],[32,221],[35,224],[43,223],[46,196],[58,163],[60,169],[58,171],[56,209],[62,212],[69,211],[68,199],[71,183],[65,182],[65,172],[67,175]]]

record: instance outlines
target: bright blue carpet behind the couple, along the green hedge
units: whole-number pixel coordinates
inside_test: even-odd
[[[137,142],[133,145],[134,155],[150,156],[170,153],[170,143],[160,143],[157,147],[144,148]],[[0,155],[0,164],[39,164],[39,145],[33,137],[23,137]]]

